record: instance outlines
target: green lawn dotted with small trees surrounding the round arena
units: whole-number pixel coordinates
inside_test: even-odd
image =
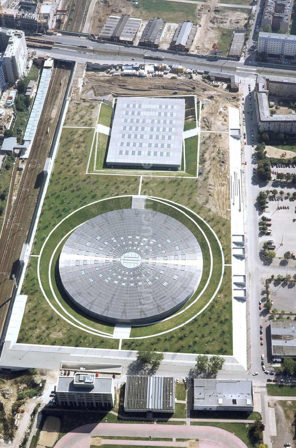
[[[87,107],[91,106],[92,104],[87,105]],[[91,108],[91,110],[93,117],[90,124],[93,124],[93,119],[97,112],[94,108]],[[104,111],[105,109],[103,108],[102,110]],[[74,113],[74,109],[71,110],[71,114],[73,115]],[[97,201],[98,199],[119,196],[122,194],[138,193],[139,177],[120,176],[119,174],[118,176],[109,176],[108,174],[100,176],[86,174],[93,135],[94,129],[64,128],[62,130],[59,150],[39,218],[32,254],[38,255],[40,253],[41,246],[50,231],[72,211],[90,204],[93,201]],[[98,164],[102,166],[104,159],[104,151],[100,151],[105,142],[105,140],[103,142],[104,138],[105,136],[103,134],[98,134],[99,151],[97,152],[96,159],[97,166]],[[94,144],[96,145],[96,140],[94,141]],[[194,146],[197,147],[197,137],[195,138]],[[186,155],[187,166],[190,166],[190,156],[192,156],[194,151],[193,149],[190,151],[190,146],[187,146],[186,151],[188,151],[188,155]],[[91,167],[94,166],[94,153],[95,151],[92,151],[90,170],[92,169]],[[230,258],[230,221],[224,217],[218,216],[205,205],[201,205],[200,197],[197,196],[198,182],[198,179],[181,179],[177,177],[143,177],[141,193],[171,199],[196,211],[196,213],[209,222],[209,225],[217,234],[218,239],[223,241],[222,249],[224,257],[228,256]],[[76,211],[52,233],[41,256],[41,281],[49,300],[54,304],[57,310],[65,315],[65,311],[63,311],[54,301],[48,284],[49,260],[56,246],[57,252],[53,257],[50,276],[54,292],[61,302],[61,305],[73,316],[73,318],[78,319],[84,325],[89,325],[97,330],[110,334],[113,333],[112,325],[98,322],[96,319],[83,314],[80,310],[76,309],[72,302],[70,303],[69,299],[65,296],[65,293],[61,288],[61,281],[58,273],[58,255],[64,244],[61,242],[61,238],[64,237],[66,233],[70,232],[76,225],[81,224],[93,216],[104,213],[104,211],[113,208],[130,207],[130,203],[131,198],[116,199],[110,202],[99,202],[87,206],[81,211]],[[149,207],[149,203],[150,207],[152,207],[151,201],[147,201],[147,207]],[[165,210],[168,214],[172,214],[173,210],[171,207],[163,204],[160,206],[155,206],[154,204],[153,208],[159,211]],[[181,215],[179,211],[173,213],[173,215],[177,214],[182,216],[180,220],[184,220],[184,222],[186,221],[186,225],[196,233],[203,250],[204,273],[196,295],[190,299],[190,301],[193,301],[197,294],[202,290],[209,275],[209,250],[205,244],[204,237],[196,226],[194,226],[188,218],[183,217],[184,215]],[[192,215],[192,219],[195,220],[194,215]],[[205,293],[199,298],[196,304],[191,306],[177,318],[169,319],[162,324],[156,324],[154,326],[133,328],[131,337],[142,336],[144,334],[150,335],[166,329],[170,330],[170,328],[180,325],[185,320],[190,319],[201,310],[209,301],[209,298],[212,297],[221,276],[222,256],[218,242],[213,237],[210,229],[200,220],[199,224],[209,238],[214,257],[212,278]],[[118,340],[112,340],[103,336],[89,335],[83,330],[72,327],[69,323],[66,323],[54,310],[52,310],[45,301],[39,288],[37,279],[37,258],[30,258],[22,293],[28,294],[28,300],[18,342],[118,348]],[[188,303],[190,303],[190,301]],[[69,319],[71,320],[72,318]],[[122,344],[122,349],[139,349],[139,347],[190,353],[202,353],[204,351],[205,353],[231,354],[231,269],[226,267],[222,285],[217,293],[217,297],[214,298],[214,301],[200,316],[198,316],[198,318],[183,325],[177,331],[170,332],[163,336],[155,336],[154,338],[149,337],[148,339],[141,341],[125,340]],[[108,420],[117,421],[117,418],[112,414],[108,414]],[[178,422],[176,424],[178,424]]]

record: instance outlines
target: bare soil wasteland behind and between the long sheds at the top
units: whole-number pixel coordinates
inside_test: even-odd
[[[79,1],[81,0],[78,0],[78,4]],[[205,4],[201,4],[201,2],[196,2],[196,5],[187,4],[184,9],[182,3],[161,0],[149,0],[144,4],[136,5],[127,0],[92,0],[89,12],[83,19],[83,31],[95,35],[100,34],[109,15],[128,14],[131,17],[140,18],[143,20],[142,31],[149,18],[161,17],[167,23],[161,36],[159,48],[168,49],[178,22],[189,20],[198,25],[190,52],[210,54],[213,45],[216,44],[217,50],[221,51],[223,56],[227,56],[234,30],[244,29],[248,21],[250,10],[244,8],[244,2],[242,3],[241,8],[231,8],[229,5],[227,7],[217,6],[217,3],[211,0]],[[78,8],[78,12],[83,17],[80,9]],[[71,18],[68,17],[65,29],[76,30],[73,23],[69,28],[70,21]]]

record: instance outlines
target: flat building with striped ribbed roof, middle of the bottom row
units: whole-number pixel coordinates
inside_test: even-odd
[[[175,409],[175,381],[171,376],[126,377],[126,412],[170,412]]]

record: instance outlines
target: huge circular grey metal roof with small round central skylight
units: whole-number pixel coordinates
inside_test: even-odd
[[[196,290],[202,254],[193,233],[152,210],[124,209],[78,227],[61,251],[62,284],[83,311],[108,322],[148,323]]]

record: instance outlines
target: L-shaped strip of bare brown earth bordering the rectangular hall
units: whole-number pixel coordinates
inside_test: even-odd
[[[229,92],[227,84],[220,83],[219,87],[213,87],[209,80],[200,75],[193,75],[193,78],[184,75],[177,79],[128,78],[88,71],[83,78],[81,91],[75,90],[71,103],[75,106],[74,101],[87,101],[90,108],[92,100],[112,102],[117,96],[192,94],[202,102],[199,169],[203,174],[198,178],[196,199],[229,219],[228,106],[236,107],[239,95]]]

